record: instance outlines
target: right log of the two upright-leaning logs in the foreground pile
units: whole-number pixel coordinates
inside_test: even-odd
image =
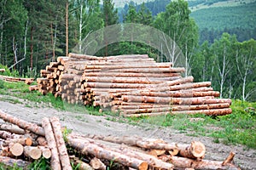
[[[55,141],[57,144],[57,148],[59,150],[59,156],[61,161],[61,167],[63,170],[72,170],[72,167],[70,165],[69,157],[67,154],[67,148],[65,141],[63,139],[62,133],[61,133],[61,123],[57,117],[51,117],[49,119],[51,126],[54,131],[55,135]]]

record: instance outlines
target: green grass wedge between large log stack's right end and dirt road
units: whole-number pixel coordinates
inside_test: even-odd
[[[233,113],[227,116],[175,115],[129,118],[134,124],[147,122],[172,127],[189,136],[212,137],[215,143],[242,144],[256,149],[256,103],[233,101]],[[254,108],[254,109],[253,109]]]

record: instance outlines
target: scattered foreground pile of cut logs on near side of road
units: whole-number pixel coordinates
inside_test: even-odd
[[[204,160],[206,147],[198,141],[173,144],[162,139],[66,134],[58,118],[44,117],[42,125],[25,122],[0,110],[0,162],[26,168],[44,156],[52,169],[239,169],[234,153],[224,161]],[[67,150],[67,145],[69,150]]]

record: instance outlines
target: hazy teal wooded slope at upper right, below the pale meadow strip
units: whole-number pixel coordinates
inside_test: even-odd
[[[213,42],[223,32],[236,34],[242,42],[256,38],[256,3],[240,4],[235,7],[202,8],[190,14],[201,31],[201,42]]]

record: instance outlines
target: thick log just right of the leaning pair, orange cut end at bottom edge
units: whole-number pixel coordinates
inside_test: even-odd
[[[73,148],[81,151],[82,154],[91,154],[99,159],[107,159],[109,161],[116,161],[127,167],[133,167],[136,169],[148,169],[148,163],[146,161],[138,160],[111,150],[103,149],[96,144],[90,144],[90,141],[85,139],[74,139],[73,136],[68,135],[68,144]]]

